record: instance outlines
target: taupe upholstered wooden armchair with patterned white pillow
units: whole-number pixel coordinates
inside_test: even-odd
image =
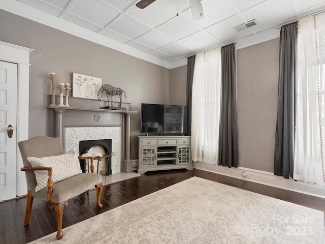
[[[57,221],[56,238],[63,237],[63,208],[68,199],[76,197],[95,187],[98,189],[97,206],[103,191],[102,175],[82,173],[78,155],[74,150],[64,154],[59,138],[36,136],[18,142],[27,181],[27,205],[24,224],[29,224],[31,206],[34,198],[50,202]],[[85,159],[85,158],[83,158]],[[90,157],[93,171],[92,158]]]

